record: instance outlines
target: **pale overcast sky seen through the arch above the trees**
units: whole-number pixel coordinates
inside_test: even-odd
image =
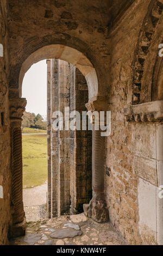
[[[22,97],[26,97],[26,111],[47,115],[47,64],[37,62],[27,71],[23,79]]]

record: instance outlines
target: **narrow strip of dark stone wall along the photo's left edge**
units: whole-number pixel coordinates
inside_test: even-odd
[[[0,245],[8,243],[8,231],[11,222],[10,195],[10,133],[8,103],[8,35],[5,1],[0,1],[0,44],[3,45],[3,57],[0,57],[0,186],[3,198],[0,198]]]

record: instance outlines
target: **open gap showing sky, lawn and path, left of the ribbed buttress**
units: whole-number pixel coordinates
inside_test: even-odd
[[[26,72],[22,84],[26,111],[22,117],[23,206],[26,221],[47,218],[47,64]]]

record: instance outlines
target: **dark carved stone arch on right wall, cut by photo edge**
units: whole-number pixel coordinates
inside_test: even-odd
[[[163,1],[151,1],[143,20],[133,61],[132,104],[152,101],[155,63],[162,42]],[[149,82],[150,81],[150,82]]]

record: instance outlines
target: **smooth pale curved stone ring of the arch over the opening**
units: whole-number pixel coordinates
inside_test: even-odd
[[[22,82],[24,75],[34,63],[39,62],[43,59],[61,59],[72,65],[77,66],[77,68],[82,72],[82,74],[86,78],[87,86],[89,88],[89,99],[97,96],[98,94],[98,78],[96,74],[95,68],[93,68],[92,63],[82,52],[78,50],[60,45],[60,44],[52,44],[48,46],[44,46],[34,53],[30,54],[30,56],[23,62],[19,80],[18,80],[18,89],[21,96],[22,91]]]

